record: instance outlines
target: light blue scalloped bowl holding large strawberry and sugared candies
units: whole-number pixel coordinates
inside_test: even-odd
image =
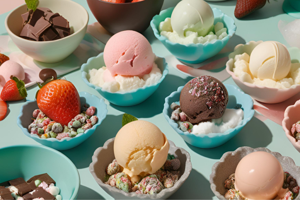
[[[42,145],[51,147],[58,151],[74,148],[88,139],[95,132],[96,128],[101,124],[107,114],[107,105],[104,103],[104,99],[99,99],[97,96],[89,94],[88,92],[79,92],[79,96],[80,103],[86,103],[90,106],[96,107],[95,115],[98,117],[98,122],[92,128],[86,130],[84,133],[79,133],[76,137],[66,137],[61,140],[55,138],[41,139],[35,134],[30,134],[28,126],[33,121],[32,112],[35,109],[38,109],[37,101],[28,101],[21,107],[20,115],[17,119],[17,124],[26,136],[31,137]]]

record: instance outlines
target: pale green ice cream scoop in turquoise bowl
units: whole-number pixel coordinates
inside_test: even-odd
[[[180,37],[184,37],[186,31],[198,32],[204,37],[212,31],[214,13],[203,0],[182,0],[172,12],[171,25]]]

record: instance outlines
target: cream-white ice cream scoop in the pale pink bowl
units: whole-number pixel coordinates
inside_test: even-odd
[[[265,41],[251,52],[249,69],[255,78],[278,81],[288,75],[291,69],[291,57],[283,44]]]

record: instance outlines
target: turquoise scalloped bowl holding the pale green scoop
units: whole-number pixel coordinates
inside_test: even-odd
[[[154,31],[155,37],[160,40],[164,46],[172,53],[176,58],[183,62],[197,64],[201,63],[208,58],[213,57],[219,53],[224,46],[227,44],[230,37],[233,36],[236,30],[234,20],[222,13],[221,10],[213,8],[214,12],[214,24],[217,22],[222,22],[224,27],[227,28],[228,36],[224,37],[222,40],[212,40],[211,42],[205,44],[179,44],[173,43],[168,40],[166,37],[161,36],[158,31],[159,23],[164,21],[167,17],[171,17],[174,7],[170,7],[166,10],[162,10],[159,15],[155,15],[150,22],[150,25]]]

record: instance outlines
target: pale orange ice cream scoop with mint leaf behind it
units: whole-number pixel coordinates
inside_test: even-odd
[[[116,135],[114,154],[123,172],[138,182],[155,173],[167,160],[170,144],[161,130],[148,121],[133,121]]]

